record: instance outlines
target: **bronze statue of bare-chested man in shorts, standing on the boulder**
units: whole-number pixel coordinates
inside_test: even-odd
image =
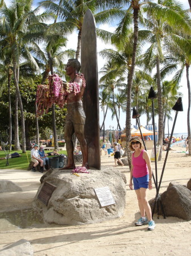
[[[82,166],[88,167],[87,143],[84,137],[84,125],[86,115],[83,110],[82,96],[86,86],[86,82],[82,74],[79,74],[80,63],[77,59],[69,59],[66,64],[66,74],[70,76],[70,82],[63,82],[63,88],[67,94],[66,108],[67,116],[65,122],[65,142],[67,151],[67,165],[60,170],[69,170],[75,168],[74,163],[74,144],[72,141],[75,133],[80,143],[83,163]]]

